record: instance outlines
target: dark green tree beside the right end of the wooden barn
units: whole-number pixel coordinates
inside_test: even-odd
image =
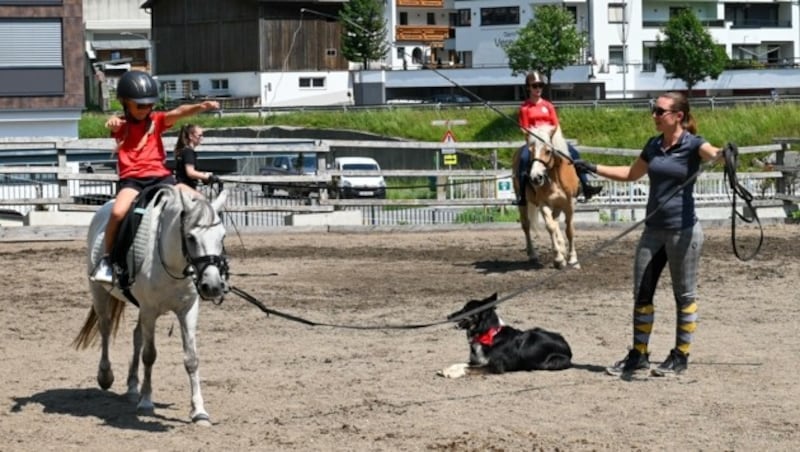
[[[367,69],[370,61],[382,60],[389,51],[383,2],[350,0],[339,11],[342,23],[342,55]]]

